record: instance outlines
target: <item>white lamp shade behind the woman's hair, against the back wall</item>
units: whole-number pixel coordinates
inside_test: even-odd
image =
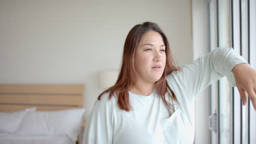
[[[104,70],[98,72],[98,84],[101,88],[112,87],[118,78],[118,70]]]

